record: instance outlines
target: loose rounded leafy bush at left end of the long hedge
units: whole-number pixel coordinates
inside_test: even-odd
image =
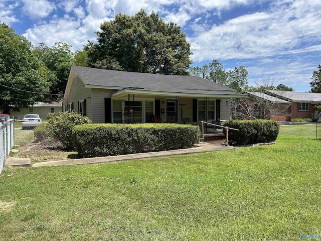
[[[61,142],[62,147],[67,150],[74,149],[72,139],[72,128],[75,125],[91,123],[90,119],[74,111],[57,112],[48,114],[48,129],[55,139]]]

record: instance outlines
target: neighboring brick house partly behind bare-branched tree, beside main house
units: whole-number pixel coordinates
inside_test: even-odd
[[[291,120],[291,102],[264,92],[245,91],[244,93],[249,97],[241,101],[243,118],[264,118],[283,122]]]

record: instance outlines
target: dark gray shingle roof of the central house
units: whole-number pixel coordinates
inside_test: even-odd
[[[86,85],[193,94],[235,94],[236,90],[196,76],[135,73],[72,66]]]

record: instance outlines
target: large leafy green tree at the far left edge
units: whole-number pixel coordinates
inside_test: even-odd
[[[43,100],[49,92],[48,70],[32,52],[31,43],[0,22],[0,110],[8,112]]]

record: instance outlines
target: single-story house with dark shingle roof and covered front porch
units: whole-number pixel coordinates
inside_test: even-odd
[[[196,76],[72,66],[63,110],[93,123],[193,123],[231,118],[235,89]]]

